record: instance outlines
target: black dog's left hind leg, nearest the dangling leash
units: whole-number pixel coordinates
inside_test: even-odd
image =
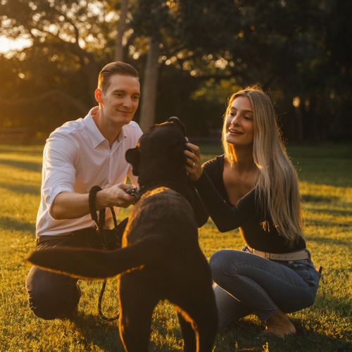
[[[146,352],[151,333],[151,316],[158,303],[151,283],[142,272],[129,272],[120,279],[120,338],[125,351]]]

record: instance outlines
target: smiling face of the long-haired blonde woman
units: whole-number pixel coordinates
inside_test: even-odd
[[[234,146],[253,145],[253,109],[247,96],[232,101],[225,118],[226,142]]]

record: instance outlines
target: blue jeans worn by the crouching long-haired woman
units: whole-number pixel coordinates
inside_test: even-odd
[[[310,259],[268,260],[231,249],[214,253],[210,268],[219,329],[249,314],[268,320],[277,310],[291,313],[311,306],[320,279]]]

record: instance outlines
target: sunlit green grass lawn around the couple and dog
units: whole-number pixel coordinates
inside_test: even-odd
[[[204,147],[204,158],[218,148]],[[298,334],[284,341],[256,340],[263,324],[255,316],[218,334],[215,351],[347,351],[351,344],[351,145],[289,148],[301,179],[305,235],[323,278],[313,307],[291,314]],[[25,258],[34,249],[39,205],[42,146],[0,146],[0,351],[122,351],[116,322],[97,315],[100,282],[81,282],[82,298],[74,321],[35,318],[27,304]],[[129,210],[120,213],[121,219]],[[237,231],[220,234],[212,222],[199,232],[209,258],[214,251],[241,247]],[[104,298],[107,315],[116,308],[115,280]],[[158,305],[153,315],[151,351],[176,351],[182,336],[172,306]]]

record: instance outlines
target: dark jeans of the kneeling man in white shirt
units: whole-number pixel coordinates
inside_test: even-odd
[[[118,225],[118,235],[125,230],[127,219]],[[106,231],[108,249],[115,249],[118,244],[116,233]],[[37,239],[37,251],[56,246],[101,249],[101,239],[94,228],[75,231],[72,234],[42,236]],[[26,289],[30,308],[34,314],[43,319],[70,317],[80,301],[80,287],[77,279],[59,275],[32,267],[27,275]]]

